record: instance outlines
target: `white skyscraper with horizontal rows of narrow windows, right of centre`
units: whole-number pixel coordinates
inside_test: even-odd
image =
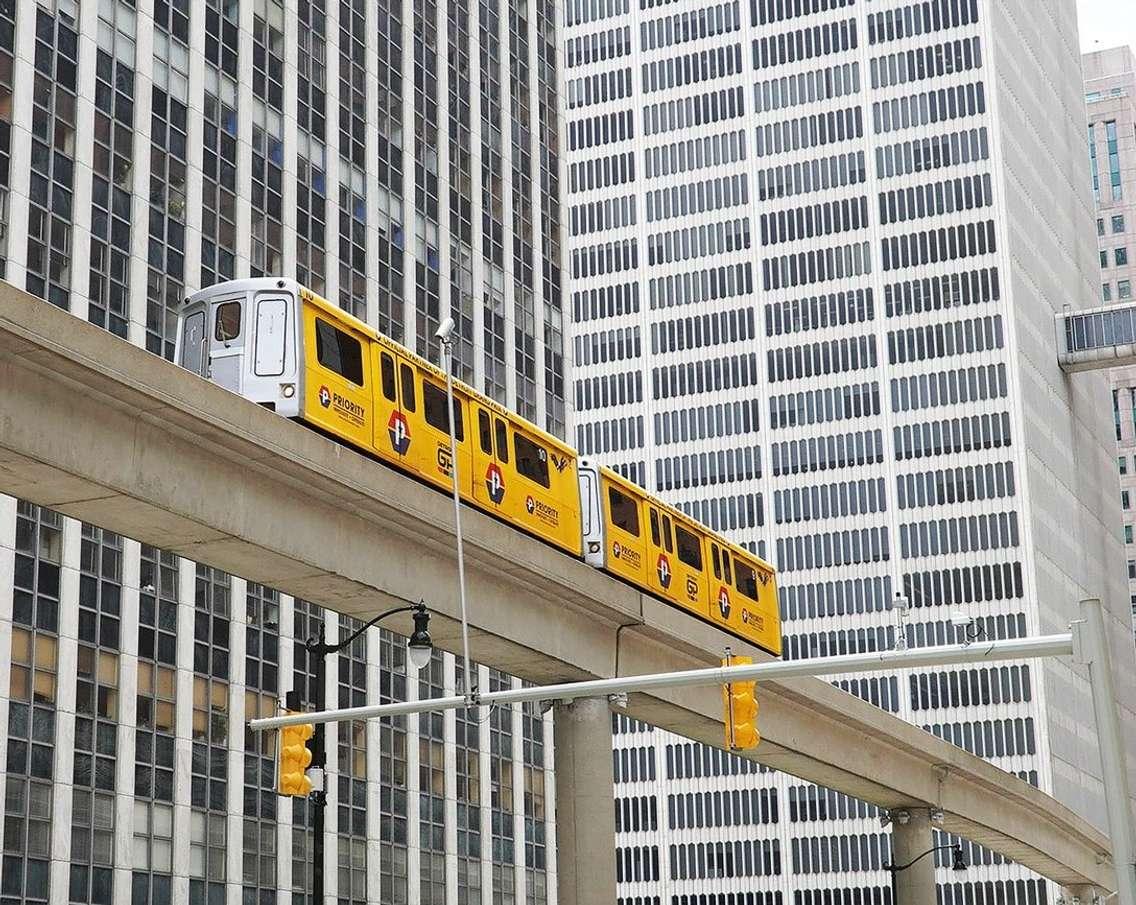
[[[900,593],[912,645],[1100,595],[1130,719],[1106,389],[1053,344],[1099,284],[1074,6],[568,0],[565,25],[576,443],[777,565],[788,657],[893,645]],[[1101,821],[1067,665],[838,684]],[[887,900],[872,808],[617,729],[623,903]],[[944,902],[1052,900],[964,849]]]

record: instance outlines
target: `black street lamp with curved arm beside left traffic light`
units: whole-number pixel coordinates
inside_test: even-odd
[[[327,655],[337,654],[348,647],[356,638],[367,629],[395,613],[414,613],[415,630],[407,640],[407,659],[415,669],[421,669],[429,663],[431,653],[434,645],[429,638],[429,610],[425,603],[412,603],[407,606],[395,606],[393,610],[382,612],[371,619],[367,625],[353,632],[350,637],[335,644],[324,640],[324,625],[319,625],[319,637],[308,638],[303,647],[308,652],[311,662],[312,685],[311,703],[317,711],[321,711],[324,704],[325,670],[327,668]],[[299,692],[289,692],[287,709],[291,711],[303,710],[303,702]],[[311,831],[315,837],[311,848],[311,900],[316,905],[324,902],[324,808],[327,806],[327,789],[325,784],[327,766],[327,748],[325,746],[326,723],[316,723],[316,732],[311,738],[311,770],[317,771],[311,793],[308,796],[311,814]]]

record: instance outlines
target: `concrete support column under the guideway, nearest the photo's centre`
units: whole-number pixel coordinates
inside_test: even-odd
[[[560,905],[616,899],[616,808],[611,711],[605,698],[558,704],[557,863]]]

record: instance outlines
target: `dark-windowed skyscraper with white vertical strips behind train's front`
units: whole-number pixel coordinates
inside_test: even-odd
[[[295,275],[434,359],[450,313],[460,376],[562,433],[558,129],[552,0],[0,0],[0,276],[167,358],[231,277]],[[0,497],[0,902],[310,899],[310,811],[244,724],[357,627],[318,604]],[[460,668],[404,670],[370,630],[326,699]],[[549,730],[329,731],[327,895],[554,900]]]

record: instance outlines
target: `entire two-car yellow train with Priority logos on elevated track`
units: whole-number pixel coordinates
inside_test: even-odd
[[[445,372],[294,280],[195,293],[177,362],[450,491]],[[467,503],[780,654],[772,567],[460,382],[453,405]]]

